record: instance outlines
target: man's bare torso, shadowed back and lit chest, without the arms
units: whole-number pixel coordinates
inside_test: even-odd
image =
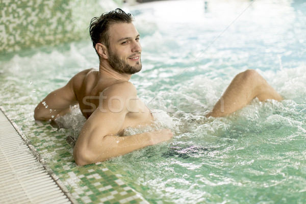
[[[87,69],[79,74],[80,83],[75,86],[74,92],[77,96],[82,114],[86,118],[89,118],[99,106],[101,92],[110,86],[122,83],[122,81],[100,76],[97,69]],[[118,96],[120,96],[120,93],[118,93]],[[126,127],[145,126],[151,124],[152,120],[154,120],[150,110],[142,100],[138,98],[136,104],[137,110],[133,109],[133,111],[126,114],[119,133],[124,131]]]

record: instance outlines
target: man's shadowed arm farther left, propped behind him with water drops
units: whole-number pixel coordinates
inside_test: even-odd
[[[35,120],[50,120],[58,116],[65,115],[70,111],[70,106],[78,103],[75,96],[75,89],[78,89],[84,80],[84,70],[74,75],[74,77],[62,88],[49,93],[40,101],[34,110]]]

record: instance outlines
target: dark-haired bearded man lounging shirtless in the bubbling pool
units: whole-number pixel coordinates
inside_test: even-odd
[[[170,130],[163,129],[119,137],[127,127],[150,125],[154,119],[129,82],[132,74],[142,68],[139,33],[132,21],[132,15],[121,9],[93,18],[90,35],[99,57],[99,70],[77,73],[66,86],[49,93],[35,109],[36,120],[50,120],[69,112],[71,105],[79,104],[87,121],[73,149],[78,165],[124,155],[173,136]],[[231,114],[255,97],[282,100],[260,74],[247,70],[234,78],[207,116]]]

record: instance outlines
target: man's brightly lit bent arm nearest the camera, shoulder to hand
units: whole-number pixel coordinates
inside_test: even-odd
[[[135,87],[129,82],[117,87],[109,87],[104,92],[102,103],[85,122],[74,146],[75,163],[83,166],[105,161],[171,139],[173,135],[167,129],[125,137],[116,136],[122,131],[126,114],[129,113],[126,106],[133,106],[126,104],[126,101],[129,101],[126,99],[131,96],[136,98],[137,94]],[[120,98],[120,100],[112,98]],[[130,101],[133,103],[135,100]]]

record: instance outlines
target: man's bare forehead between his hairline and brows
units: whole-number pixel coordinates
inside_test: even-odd
[[[133,23],[115,23],[110,25],[109,34],[111,40],[119,40],[121,38],[136,37],[139,35]]]

